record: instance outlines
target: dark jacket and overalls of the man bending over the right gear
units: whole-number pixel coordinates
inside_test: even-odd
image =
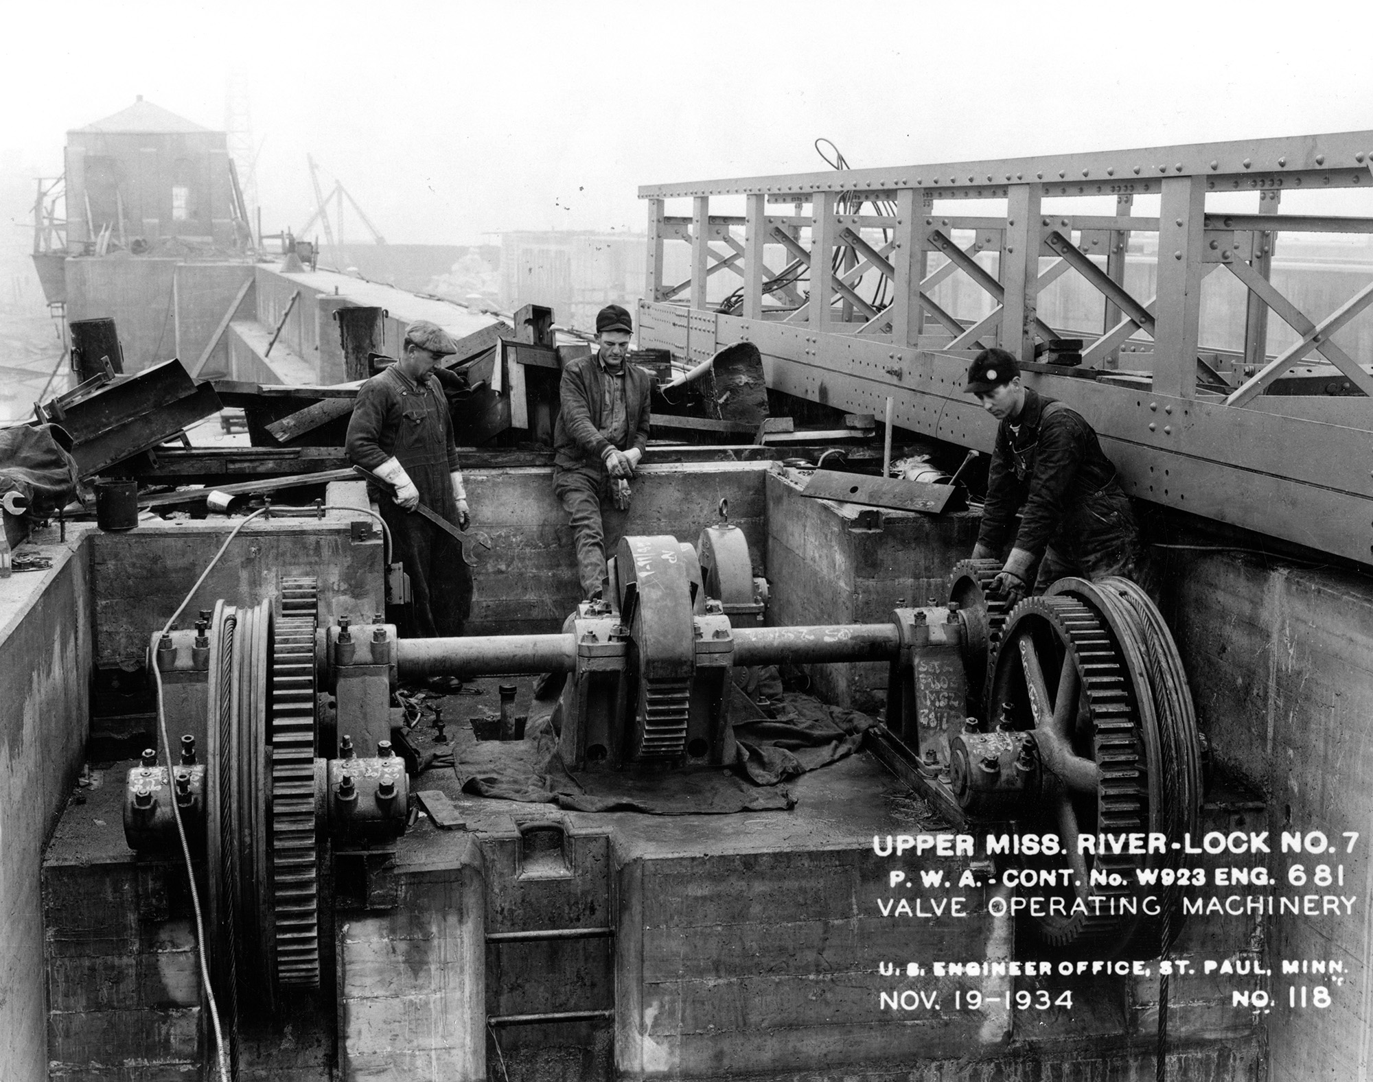
[[[1017,424],[1001,422],[978,542],[1042,553],[1035,590],[1064,575],[1126,575],[1145,589],[1148,563],[1130,497],[1092,426],[1063,402],[1026,389]]]

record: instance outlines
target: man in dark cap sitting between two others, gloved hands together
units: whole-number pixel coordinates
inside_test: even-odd
[[[582,595],[601,596],[605,552],[619,544],[630,481],[648,446],[649,375],[630,364],[634,323],[619,305],[596,314],[596,353],[563,369],[553,430],[553,492],[577,545]]]

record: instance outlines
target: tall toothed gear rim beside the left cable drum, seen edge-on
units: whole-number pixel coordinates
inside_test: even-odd
[[[272,640],[272,914],[279,985],[319,987],[314,817],[316,579],[281,582]]]

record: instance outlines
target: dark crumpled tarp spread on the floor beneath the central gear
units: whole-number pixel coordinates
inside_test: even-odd
[[[546,711],[549,704],[542,706]],[[873,720],[785,692],[772,707],[777,717],[761,717],[735,689],[730,715],[746,720],[735,722],[736,750],[724,766],[573,774],[544,713],[530,718],[524,740],[481,740],[456,751],[454,770],[464,792],[555,803],[573,812],[688,816],[785,810],[796,803],[787,779],[855,751]]]

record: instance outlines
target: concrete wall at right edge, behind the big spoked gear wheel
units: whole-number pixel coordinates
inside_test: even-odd
[[[1354,897],[1352,913],[1273,921],[1281,958],[1335,958],[1343,983],[1280,975],[1274,987],[1326,985],[1326,1009],[1269,1015],[1274,1082],[1357,1078],[1373,1037],[1373,582],[1361,575],[1265,566],[1243,555],[1185,553],[1164,575],[1170,623],[1188,666],[1201,729],[1216,758],[1269,795],[1274,832],[1324,831],[1339,851],[1274,857],[1280,893]],[[1344,831],[1358,831],[1346,853]],[[1287,869],[1343,865],[1344,887],[1288,886]]]

